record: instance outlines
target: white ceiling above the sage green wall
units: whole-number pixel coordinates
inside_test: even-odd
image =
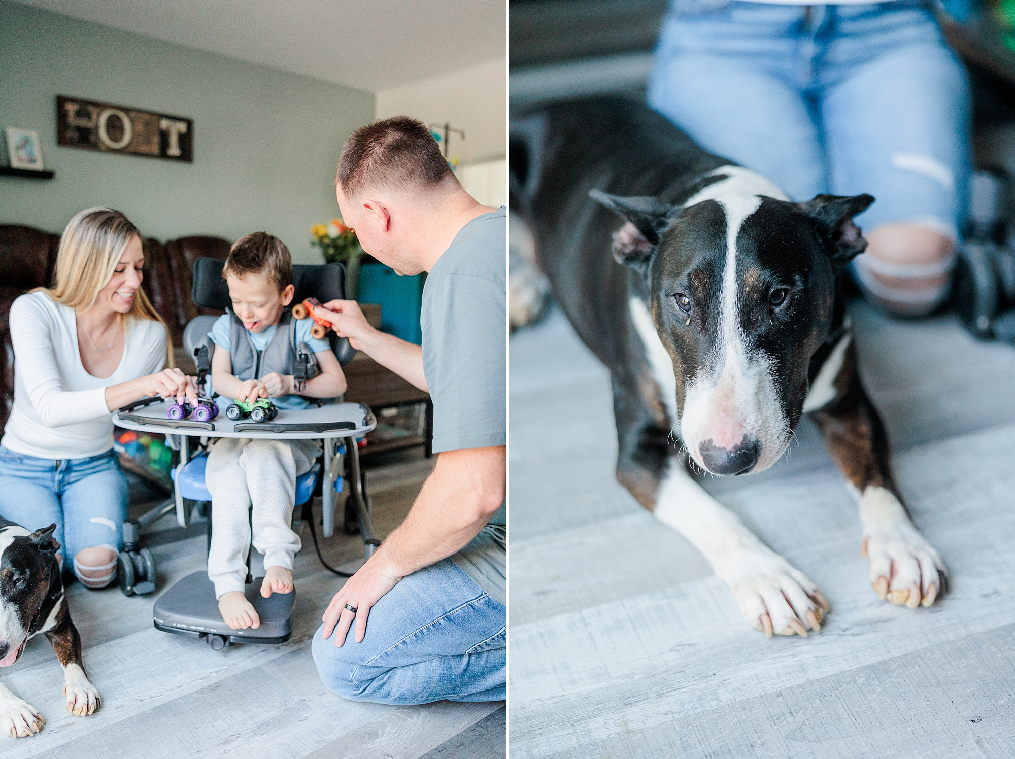
[[[17,0],[376,92],[507,54],[506,0]]]

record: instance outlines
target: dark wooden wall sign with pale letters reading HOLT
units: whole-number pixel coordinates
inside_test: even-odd
[[[57,96],[57,144],[194,162],[194,120]]]

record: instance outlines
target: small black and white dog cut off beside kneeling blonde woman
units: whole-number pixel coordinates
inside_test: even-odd
[[[0,520],[0,667],[20,658],[28,638],[43,633],[64,669],[67,711],[94,713],[98,691],[81,665],[81,636],[71,621],[53,539],[56,525],[35,533]],[[39,733],[46,719],[0,683],[0,729],[11,738]]]

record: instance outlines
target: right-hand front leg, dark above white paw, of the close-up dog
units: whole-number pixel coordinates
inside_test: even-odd
[[[834,387],[835,399],[813,416],[859,501],[861,552],[870,558],[871,584],[882,601],[910,609],[930,606],[947,591],[948,573],[941,554],[902,504],[891,475],[888,437],[860,382],[852,344]]]

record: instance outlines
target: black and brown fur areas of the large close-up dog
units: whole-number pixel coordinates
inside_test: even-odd
[[[623,98],[556,104],[512,124],[512,211],[533,235],[538,260],[579,336],[610,369],[617,477],[650,509],[680,448],[679,441],[672,445],[678,420],[668,412],[673,399],[661,394],[627,304],[640,299],[651,313],[673,363],[675,407],[682,415],[686,389],[717,370],[718,291],[727,256],[724,206],[707,198],[684,203],[727,180],[717,171],[724,166],[735,164]],[[746,216],[735,243],[739,330],[751,355],[768,357],[789,435],[811,384],[847,336],[839,277],[866,247],[852,218],[874,199],[819,195],[793,203],[757,197],[757,210]],[[855,347],[843,345],[833,368],[834,397],[814,410],[814,418],[860,493],[883,488],[901,503],[884,427],[860,382]],[[715,474],[749,472],[762,457],[762,443],[747,435],[725,447],[703,436],[697,442],[691,455]],[[764,466],[780,453],[769,452]],[[939,571],[934,580],[943,592],[943,565]],[[879,580],[882,598],[889,579],[885,589]]]

